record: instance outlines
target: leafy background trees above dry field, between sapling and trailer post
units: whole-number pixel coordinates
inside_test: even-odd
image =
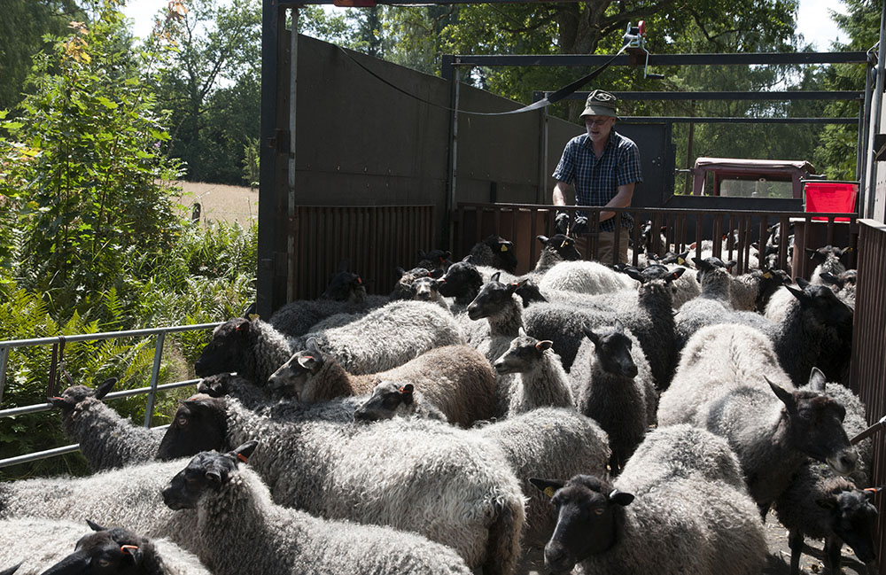
[[[190,180],[234,178],[232,183],[240,183],[237,166],[245,138],[258,136],[260,97],[240,111],[254,127],[240,134],[218,123],[237,114],[215,113],[213,106],[220,100],[224,105],[244,103],[245,96],[255,94],[261,64],[260,2],[175,0],[171,6],[158,19],[159,34],[149,43],[174,47],[158,86],[160,103],[172,111],[168,153],[183,159]],[[220,165],[229,167],[230,174],[218,175]]]

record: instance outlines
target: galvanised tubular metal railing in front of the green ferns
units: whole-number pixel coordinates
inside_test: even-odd
[[[216,323],[199,323],[197,325],[178,325],[167,328],[152,328],[147,330],[128,330],[128,331],[107,331],[104,333],[88,333],[88,334],[78,334],[74,336],[56,336],[53,338],[34,338],[34,339],[12,339],[7,341],[0,341],[0,400],[3,400],[4,388],[6,385],[6,364],[9,359],[9,353],[12,349],[19,347],[34,347],[34,346],[54,346],[54,351],[58,350],[58,346],[63,346],[66,342],[80,342],[80,341],[101,341],[105,339],[119,339],[119,338],[133,338],[133,337],[145,337],[145,336],[157,336],[156,343],[154,345],[154,357],[151,369],[151,381],[147,387],[140,387],[137,389],[129,389],[120,392],[108,393],[105,396],[105,399],[113,400],[121,397],[129,397],[132,395],[142,395],[147,394],[148,400],[147,405],[144,408],[144,427],[151,427],[151,421],[154,410],[154,402],[157,397],[157,392],[164,392],[167,390],[175,389],[177,387],[184,387],[185,385],[193,385],[197,383],[198,379],[189,379],[186,381],[178,381],[173,382],[171,384],[158,385],[159,380],[159,372],[160,372],[160,362],[163,358],[163,346],[166,341],[167,333],[180,333],[183,331],[196,331],[196,330],[211,330],[215,327],[221,325],[221,322]],[[53,357],[56,357],[56,354],[53,354]],[[58,366],[53,361],[53,365],[51,366],[51,373],[55,373],[56,368]],[[52,382],[50,383],[51,389]],[[26,414],[39,413],[42,411],[51,410],[52,404],[47,403],[36,403],[33,405],[21,406],[18,408],[11,409],[0,409],[0,417],[12,417],[12,416],[22,416]],[[47,449],[44,451],[38,451],[32,454],[19,455],[16,457],[9,457],[6,459],[0,459],[0,469],[4,467],[9,467],[11,465],[18,465],[19,463],[27,463],[34,462],[40,459],[47,459],[49,457],[55,457],[57,455],[65,455],[69,453],[73,453],[80,448],[79,444],[72,444],[64,447],[54,447],[52,449]]]

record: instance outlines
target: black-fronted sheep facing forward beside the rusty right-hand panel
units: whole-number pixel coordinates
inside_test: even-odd
[[[800,289],[786,286],[797,298],[773,331],[775,353],[794,385],[805,382],[813,367],[829,381],[848,383],[852,354],[852,309],[825,285],[796,278]]]

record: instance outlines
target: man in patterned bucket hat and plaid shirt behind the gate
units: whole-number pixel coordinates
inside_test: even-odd
[[[566,143],[563,157],[554,170],[556,178],[553,203],[566,205],[566,192],[575,185],[576,206],[627,207],[631,205],[633,186],[642,182],[640,151],[632,140],[613,131],[618,118],[618,98],[595,89],[587,97],[581,120],[587,134],[576,136]],[[580,214],[580,213],[579,213]],[[633,226],[629,214],[621,215],[618,246],[615,245],[615,212],[600,213],[597,236],[597,259],[611,264],[618,252],[618,261],[627,261],[627,239]],[[562,216],[561,216],[562,217]]]

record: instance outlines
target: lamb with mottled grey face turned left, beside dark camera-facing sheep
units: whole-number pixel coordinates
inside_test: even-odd
[[[508,416],[535,408],[573,407],[569,379],[551,345],[527,336],[521,328],[508,351],[495,361],[499,375],[517,375],[507,390]]]

